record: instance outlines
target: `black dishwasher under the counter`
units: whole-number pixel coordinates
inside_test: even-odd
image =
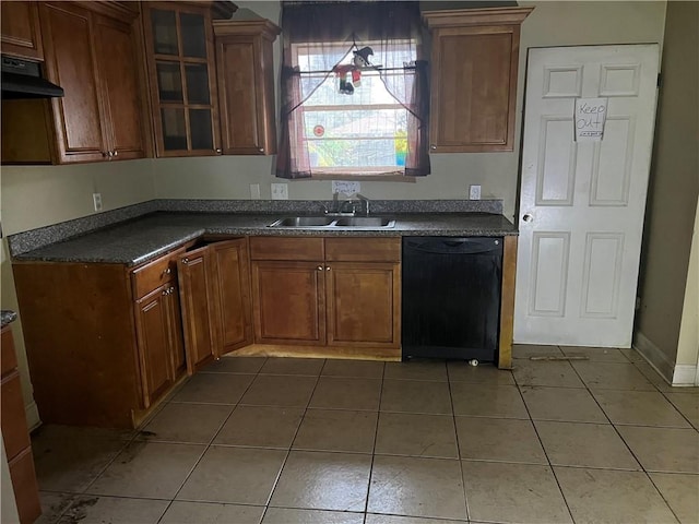
[[[502,238],[403,238],[403,359],[497,359]]]

